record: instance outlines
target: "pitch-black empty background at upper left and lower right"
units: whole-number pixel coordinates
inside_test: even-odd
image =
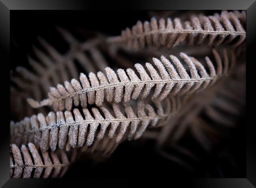
[[[208,11],[212,14],[215,11]],[[150,20],[147,11],[11,11],[11,64],[28,66],[27,55],[33,57],[32,45],[38,46],[37,37],[45,38],[61,53],[65,53],[67,44],[59,35],[55,26],[61,26],[79,38],[84,33],[95,32],[106,35],[119,35],[122,29],[133,26],[137,20]],[[84,30],[86,31],[84,31]],[[202,162],[189,162],[195,172],[186,170],[174,161],[158,155],[154,141],[126,141],[122,143],[106,162],[95,164],[91,161],[77,162],[65,177],[138,177],[139,175],[170,175],[187,177],[204,177],[206,172],[211,177],[246,177],[246,138],[245,119],[237,121],[238,126],[230,131],[230,138],[224,139],[211,153],[206,153],[189,136],[182,141],[193,148]],[[216,153],[229,148],[234,157],[236,168],[229,159],[217,159]],[[173,152],[173,155],[182,157]],[[184,157],[184,156],[183,156]],[[185,157],[186,158],[186,157]],[[184,159],[189,161],[189,159]],[[221,166],[222,173],[219,172]],[[109,172],[112,173],[109,173]]]

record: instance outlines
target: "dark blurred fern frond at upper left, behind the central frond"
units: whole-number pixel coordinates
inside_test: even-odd
[[[68,31],[61,29],[61,33],[65,32],[65,38],[73,37]],[[73,37],[74,38],[74,37]],[[96,49],[96,45],[100,39],[92,39],[83,43],[69,43],[70,49],[65,54],[59,53],[53,46],[51,46],[46,40],[39,37],[39,42],[45,48],[48,54],[39,50],[37,47],[33,47],[34,53],[40,61],[34,60],[28,57],[28,61],[35,72],[28,70],[27,68],[17,67],[17,75],[12,75],[11,80],[24,90],[30,89],[32,95],[36,98],[43,98],[42,95],[47,94],[50,86],[53,84],[63,83],[70,78],[78,78],[79,73],[82,70],[76,68],[74,60],[77,60],[83,71],[89,73],[91,71],[101,70],[102,67],[106,67],[106,60],[104,60],[100,51]],[[91,53],[90,60],[84,51]],[[95,66],[95,63],[97,66]],[[40,88],[44,91],[41,93]]]

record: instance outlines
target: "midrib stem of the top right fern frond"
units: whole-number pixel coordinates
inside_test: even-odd
[[[107,38],[107,42],[122,42],[125,40],[133,39],[133,38],[141,38],[148,35],[154,35],[154,34],[163,34],[163,33],[188,33],[188,34],[212,34],[212,35],[246,35],[246,32],[243,31],[205,31],[205,30],[192,30],[192,29],[175,29],[175,30],[156,30],[156,31],[150,31],[145,32],[143,34],[136,34],[131,35],[130,37],[123,38],[122,36],[117,37],[109,37]]]

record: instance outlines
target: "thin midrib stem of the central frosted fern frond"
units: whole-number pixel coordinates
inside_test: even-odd
[[[98,86],[98,87],[93,87],[91,89],[82,89],[81,91],[77,91],[75,93],[71,93],[69,95],[61,96],[57,98],[56,100],[52,100],[53,102],[59,102],[60,100],[65,100],[69,97],[73,97],[75,95],[79,95],[82,93],[87,93],[91,91],[96,91],[99,89],[106,89],[106,88],[113,88],[113,87],[118,87],[118,86],[128,86],[128,85],[139,85],[139,84],[167,84],[171,82],[200,82],[200,81],[206,81],[206,80],[214,80],[219,77],[224,77],[225,75],[216,75],[212,77],[207,77],[207,78],[189,78],[189,79],[169,79],[169,80],[148,80],[148,81],[129,81],[129,82],[119,82],[115,84],[108,84],[104,86]]]

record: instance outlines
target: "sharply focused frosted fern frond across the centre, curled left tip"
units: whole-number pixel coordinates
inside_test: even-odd
[[[145,99],[155,85],[156,88],[152,100],[163,100],[168,95],[191,94],[201,91],[214,84],[219,78],[227,76],[228,71],[234,65],[235,59],[232,51],[228,55],[228,52],[224,49],[223,58],[215,50],[213,50],[213,55],[217,64],[216,68],[210,58],[205,58],[210,70],[209,73],[202,63],[193,57],[187,56],[185,53],[180,53],[180,57],[187,64],[190,76],[177,57],[171,55],[171,63],[167,58],[161,56],[161,60],[153,58],[156,68],[152,64],[146,63],[148,72],[141,64],[135,64],[135,69],[140,78],[130,68],[126,69],[126,71],[118,69],[116,73],[113,69],[107,67],[105,74],[100,71],[97,75],[89,73],[88,79],[81,73],[81,84],[78,80],[72,79],[71,82],[65,82],[65,86],[58,84],[57,88],[50,88],[48,99],[41,102],[28,99],[28,102],[33,108],[53,105],[55,111],[65,108],[71,110],[72,101],[74,101],[75,106],[81,103],[83,108],[86,108],[87,102],[101,106],[105,92],[108,102],[114,100],[119,103],[122,98],[124,102],[128,102],[130,99],[134,100],[139,96],[139,98]]]

